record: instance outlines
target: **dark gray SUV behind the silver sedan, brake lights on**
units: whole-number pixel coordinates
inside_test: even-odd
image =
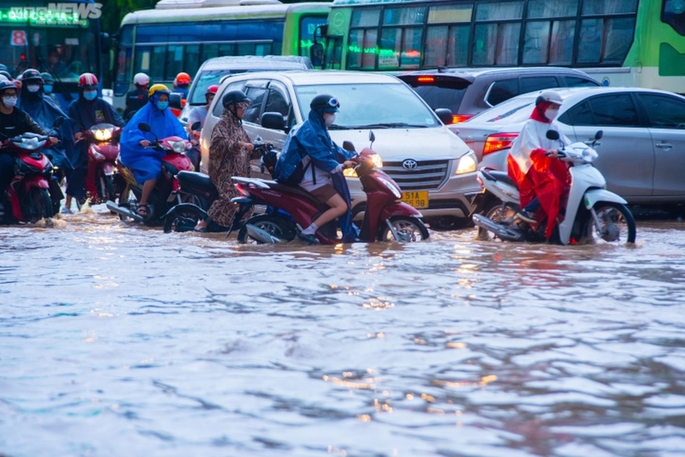
[[[398,75],[433,110],[447,108],[452,123],[466,121],[479,112],[516,95],[557,87],[600,86],[587,73],[563,67],[497,69],[437,69]]]

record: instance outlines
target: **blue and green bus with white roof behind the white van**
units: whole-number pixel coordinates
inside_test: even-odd
[[[310,55],[314,30],[331,3],[273,0],[161,0],[153,10],[121,21],[114,106],[123,108],[133,76],[171,87],[181,71],[195,75],[205,60],[223,55]]]

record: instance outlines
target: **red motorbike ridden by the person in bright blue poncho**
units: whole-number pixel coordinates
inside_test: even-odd
[[[150,132],[150,126],[147,123],[138,124],[138,129],[142,132]],[[136,182],[133,171],[118,159],[116,168],[125,184],[119,195],[119,201],[116,203],[112,200],[107,201],[107,208],[119,214],[119,219],[122,221],[132,219],[146,225],[160,225],[164,214],[176,204],[183,202],[177,175],[180,171],[192,170],[190,159],[186,156],[186,151],[190,149],[190,146],[190,141],[179,136],[155,138],[148,146],[164,151],[166,155],[162,158],[162,175],[149,197],[151,211],[147,217],[142,217],[136,212],[138,200],[142,196],[142,184]]]

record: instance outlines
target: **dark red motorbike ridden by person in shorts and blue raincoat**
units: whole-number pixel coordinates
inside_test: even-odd
[[[373,145],[373,132],[369,139]],[[343,147],[349,151],[354,150],[348,142]],[[371,147],[367,147],[352,159],[355,163],[354,170],[366,193],[366,208],[360,225],[359,240],[368,243],[375,240],[425,240],[429,233],[421,221],[421,212],[399,201],[402,196],[399,186],[390,176],[375,167],[372,159],[375,155]],[[236,188],[245,196],[234,199],[240,205],[236,218],[242,217],[254,205],[266,205],[269,208],[266,213],[257,214],[242,224],[238,231],[240,243],[250,240],[256,243],[293,240],[302,227],[308,227],[328,208],[299,187],[257,178],[235,176],[232,179],[236,181]],[[236,226],[235,221],[232,226]],[[336,221],[319,227],[316,238],[326,245],[340,243]]]

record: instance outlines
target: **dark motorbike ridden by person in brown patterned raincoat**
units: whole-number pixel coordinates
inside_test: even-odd
[[[195,124],[194,124],[195,125]],[[253,146],[255,151],[260,153],[260,169],[262,174],[270,173],[273,178],[273,169],[277,160],[277,151],[273,145],[266,144],[260,136],[256,137]],[[190,196],[192,202],[180,203],[164,214],[164,233],[169,232],[189,232],[195,230],[198,221],[208,217],[208,210],[214,200],[219,197],[210,177],[204,173],[196,171],[179,171],[178,181],[182,193]],[[242,199],[241,199],[242,201]],[[242,217],[245,216],[249,206],[242,206],[238,209],[238,217],[234,218],[230,227],[224,227],[211,221],[206,228],[207,232],[227,232],[227,236],[234,230],[240,228]],[[242,211],[242,212],[241,212]]]

